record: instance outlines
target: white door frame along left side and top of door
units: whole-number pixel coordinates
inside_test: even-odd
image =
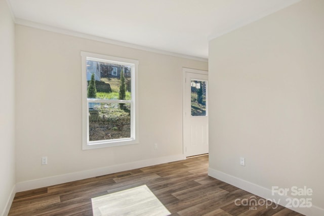
[[[183,155],[186,158],[186,146],[184,143],[184,124],[185,124],[185,103],[186,103],[186,73],[197,73],[197,74],[204,74],[208,75],[208,71],[206,70],[197,70],[192,68],[182,68],[182,146],[183,146]]]

